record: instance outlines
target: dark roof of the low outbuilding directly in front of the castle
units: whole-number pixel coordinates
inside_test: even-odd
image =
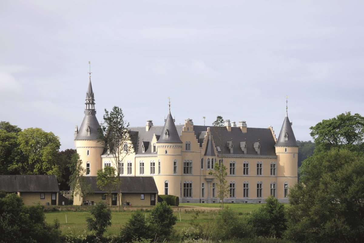
[[[107,189],[97,187],[96,176],[85,177],[94,192],[107,192]],[[158,193],[152,176],[120,176],[120,191],[122,193]],[[117,186],[112,192],[117,192]]]

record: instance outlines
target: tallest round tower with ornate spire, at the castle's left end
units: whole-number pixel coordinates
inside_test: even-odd
[[[94,92],[92,91],[91,76],[89,77],[85,116],[80,129],[77,125],[75,128],[75,147],[84,168],[86,168],[86,175],[96,176],[96,172],[102,168],[101,154],[104,150],[104,144],[98,140],[100,124],[96,118]]]

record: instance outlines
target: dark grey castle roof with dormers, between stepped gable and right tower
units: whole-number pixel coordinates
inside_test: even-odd
[[[201,132],[207,131],[208,127],[210,127],[212,139],[214,140],[215,145],[220,147],[223,154],[230,154],[230,149],[227,148],[227,142],[231,141],[233,141],[233,144],[236,145],[233,147],[233,154],[244,154],[243,150],[239,146],[240,142],[246,142],[246,154],[257,154],[254,149],[254,142],[259,141],[260,155],[276,155],[276,150],[274,148],[275,141],[269,128],[247,128],[247,132],[242,133],[239,127],[232,127],[231,132],[227,131],[225,127],[222,127],[221,146],[221,142],[218,138],[219,132],[215,127],[194,125],[193,130],[195,135],[198,137]]]

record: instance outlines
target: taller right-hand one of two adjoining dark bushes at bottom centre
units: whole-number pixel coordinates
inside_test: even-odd
[[[150,213],[152,231],[157,234],[158,239],[168,238],[176,221],[177,217],[173,215],[173,209],[165,201],[157,203]]]

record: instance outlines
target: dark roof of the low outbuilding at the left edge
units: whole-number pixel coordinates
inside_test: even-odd
[[[0,176],[0,189],[7,192],[59,192],[55,175]]]

